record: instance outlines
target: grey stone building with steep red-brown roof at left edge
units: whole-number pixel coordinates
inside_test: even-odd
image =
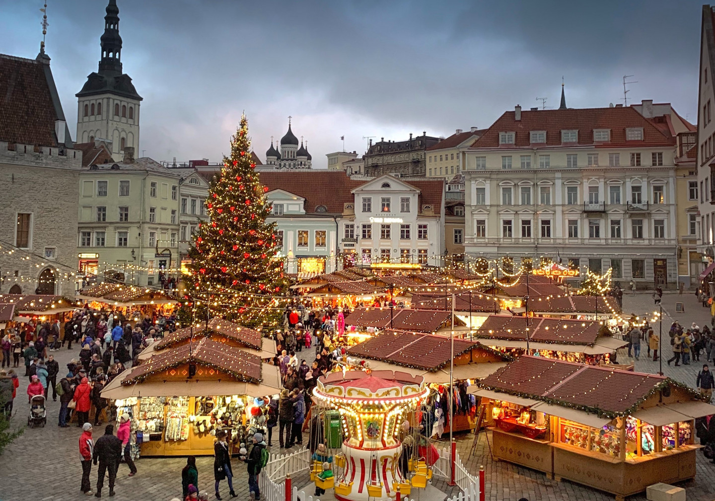
[[[74,292],[82,151],[49,64],[0,54],[0,292]]]

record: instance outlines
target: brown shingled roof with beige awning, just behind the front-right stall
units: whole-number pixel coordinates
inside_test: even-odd
[[[600,328],[599,322],[590,320],[490,315],[473,335],[489,346],[526,348],[528,332],[530,349],[585,354],[611,353],[628,344],[611,336],[599,336]]]

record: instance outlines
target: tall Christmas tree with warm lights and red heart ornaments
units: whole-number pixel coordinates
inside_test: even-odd
[[[247,326],[271,324],[285,290],[282,262],[276,259],[275,223],[267,223],[256,164],[252,162],[248,121],[231,138],[231,155],[209,183],[210,222],[194,233],[190,256],[194,289],[190,296]]]

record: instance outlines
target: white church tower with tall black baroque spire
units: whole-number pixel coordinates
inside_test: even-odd
[[[129,75],[122,73],[122,37],[119,36],[119,8],[109,1],[104,16],[102,59],[99,71],[87,76],[77,94],[77,142],[104,139],[110,144],[115,162],[124,158],[124,147],[139,153],[139,104],[142,97]]]

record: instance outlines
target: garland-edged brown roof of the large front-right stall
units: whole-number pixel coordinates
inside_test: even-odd
[[[609,418],[626,415],[649,422],[646,417],[655,416],[650,409],[657,402],[650,405],[650,409],[644,406],[644,402],[667,386],[674,392],[670,399],[673,402],[665,403],[663,407],[681,413],[681,419],[676,418],[676,421],[691,420],[715,412],[715,406],[699,401],[699,393],[669,377],[543,357],[521,357],[481,380],[477,386],[470,389],[470,393],[480,395],[483,390],[487,390],[489,393],[485,395],[493,392],[507,402],[509,395],[545,402],[548,407],[543,412],[548,414],[559,415],[558,407],[568,407],[568,410],[577,409],[605,417],[606,422]],[[698,401],[689,402],[692,400]],[[538,410],[539,406],[543,404],[532,407]],[[657,408],[660,409],[661,405]],[[639,417],[639,413],[642,417]],[[650,424],[659,426],[671,422]]]

